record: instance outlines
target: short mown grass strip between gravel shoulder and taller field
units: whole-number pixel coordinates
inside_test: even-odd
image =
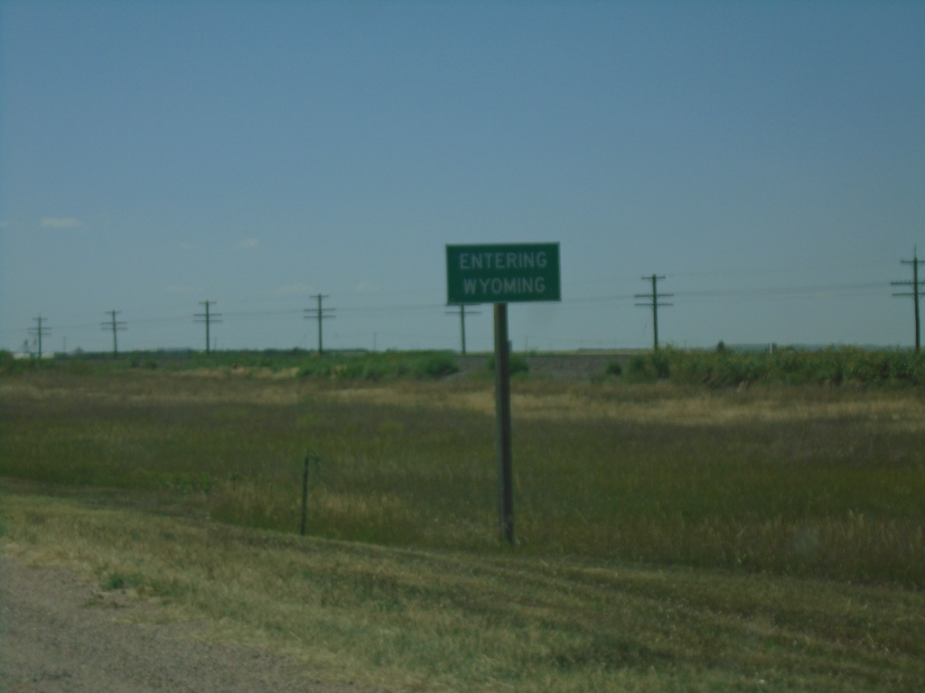
[[[361,689],[911,693],[925,680],[925,597],[895,586],[302,539],[86,492],[8,495],[6,512],[21,560]]]

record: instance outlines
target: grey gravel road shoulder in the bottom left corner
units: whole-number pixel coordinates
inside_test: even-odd
[[[0,558],[0,691],[348,693],[289,658],[194,638],[159,607],[59,568]]]

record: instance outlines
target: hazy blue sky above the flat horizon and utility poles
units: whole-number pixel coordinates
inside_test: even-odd
[[[520,242],[515,349],[650,346],[651,274],[663,344],[908,346],[923,125],[919,2],[5,0],[0,347],[458,348]]]

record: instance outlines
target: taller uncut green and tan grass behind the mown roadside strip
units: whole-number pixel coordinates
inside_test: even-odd
[[[0,476],[498,552],[490,383],[6,376]],[[516,383],[518,551],[925,587],[918,390]]]

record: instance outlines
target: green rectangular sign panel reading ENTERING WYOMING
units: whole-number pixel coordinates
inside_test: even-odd
[[[558,300],[558,243],[447,246],[449,304]]]

